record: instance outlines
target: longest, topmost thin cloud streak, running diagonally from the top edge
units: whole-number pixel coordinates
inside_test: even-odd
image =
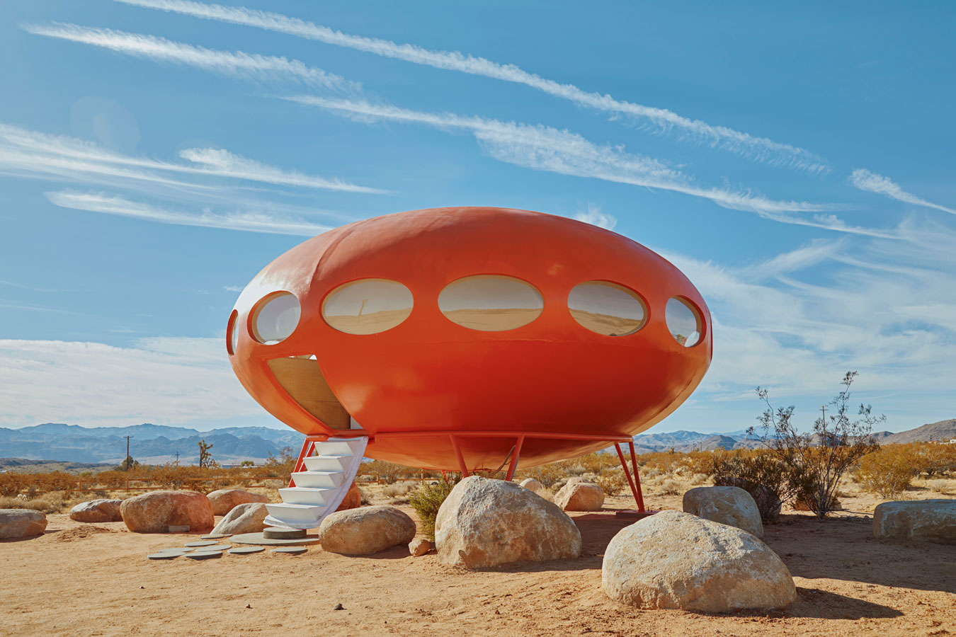
[[[173,11],[209,20],[245,25],[272,32],[281,32],[339,47],[401,59],[438,69],[481,75],[506,82],[523,84],[551,96],[570,100],[579,106],[592,108],[614,116],[631,117],[662,131],[703,140],[712,146],[773,164],[787,164],[810,172],[828,170],[824,160],[815,154],[790,144],[768,138],[754,137],[726,126],[708,124],[700,119],[684,117],[663,108],[644,106],[615,99],[609,95],[589,92],[574,84],[563,84],[553,79],[529,73],[514,64],[500,64],[484,57],[466,53],[433,51],[412,44],[398,44],[380,38],[351,35],[328,27],[270,11],[254,11],[243,7],[224,7],[218,4],[190,0],[117,0],[128,5]]]

